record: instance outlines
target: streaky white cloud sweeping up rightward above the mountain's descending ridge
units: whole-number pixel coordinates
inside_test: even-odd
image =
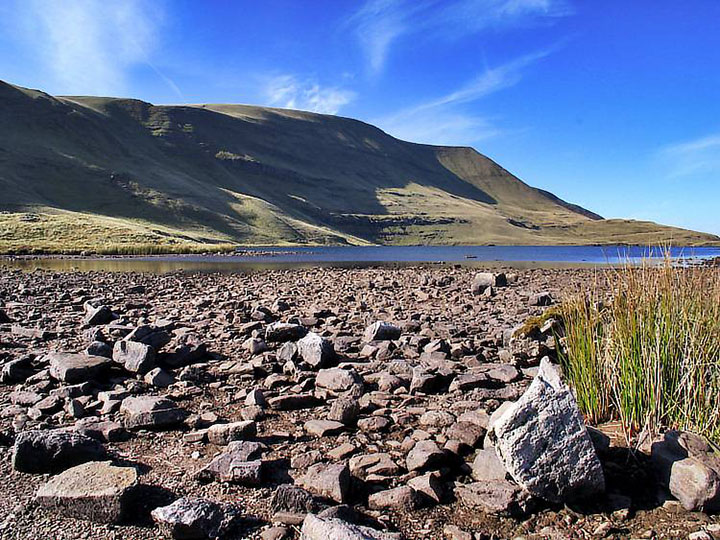
[[[552,49],[522,56],[487,69],[462,87],[374,121],[400,139],[428,144],[468,145],[505,133],[485,117],[466,112],[463,105],[514,86],[523,68],[546,57]]]

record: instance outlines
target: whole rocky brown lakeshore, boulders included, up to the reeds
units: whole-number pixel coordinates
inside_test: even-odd
[[[602,273],[494,272],[0,273],[0,538],[720,538],[554,365]]]

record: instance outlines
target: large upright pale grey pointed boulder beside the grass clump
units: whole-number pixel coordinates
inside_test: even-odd
[[[605,490],[602,466],[575,398],[548,359],[491,429],[498,457],[532,495],[568,502]]]

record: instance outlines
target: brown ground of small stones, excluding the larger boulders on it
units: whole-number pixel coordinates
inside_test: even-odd
[[[473,481],[471,465],[487,421],[483,411],[491,414],[503,401],[519,397],[540,358],[554,353],[547,329],[539,340],[511,339],[512,330],[547,309],[536,305],[548,301],[538,293],[557,299],[599,278],[591,270],[508,270],[514,274],[508,286],[477,296],[471,294],[476,271],[438,265],[248,274],[3,272],[0,307],[7,322],[0,317],[5,382],[0,384],[0,537],[157,538],[149,511],[193,496],[239,507],[243,519],[230,538],[271,538],[273,524],[285,527],[288,538],[298,538],[299,526],[287,523],[292,520],[276,523],[271,497],[280,484],[317,489],[312,482],[303,483],[303,477],[322,462],[350,464],[346,502],[356,519],[408,539],[717,534],[716,518],[685,512],[660,495],[642,455],[631,455],[619,437],[602,456],[608,494],[601,499],[572,508],[541,505],[522,517],[495,516],[456,499],[456,488]],[[116,318],[87,324],[88,301],[108,306]],[[354,370],[352,384],[346,386],[331,372],[321,385],[317,366],[308,366],[282,341],[266,341],[267,327],[277,321],[298,324],[332,343],[337,358],[322,367]],[[394,323],[401,336],[368,343],[365,330],[376,321]],[[143,376],[118,365],[76,397],[63,393],[67,385],[48,373],[47,353],[81,352],[93,341],[98,353],[98,340],[112,346],[143,325],[171,338],[155,360],[162,372]],[[20,366],[21,376],[10,366]],[[22,374],[23,369],[29,373]],[[161,375],[174,382],[164,387],[169,381],[161,381]],[[252,405],[257,389],[272,406]],[[326,419],[343,394],[357,399],[359,418],[331,435],[309,429],[306,422]],[[95,417],[123,423],[122,398],[143,395],[167,396],[189,416],[178,426],[132,429],[126,440],[105,441],[114,461],[138,468],[145,486],[123,524],[63,518],[35,502],[38,488],[50,476],[13,469],[18,432],[93,422]],[[273,405],[290,395],[317,401],[298,410]],[[224,450],[208,441],[207,428],[247,419],[255,421],[253,438],[267,446],[260,485],[201,482],[196,473]],[[417,441],[426,440],[444,449],[445,458],[408,471],[408,454]],[[343,452],[333,452],[340,447]],[[383,455],[387,466],[370,470],[373,455]],[[368,502],[373,493],[407,485],[426,470],[437,471],[439,504]],[[337,504],[317,498],[321,505]]]

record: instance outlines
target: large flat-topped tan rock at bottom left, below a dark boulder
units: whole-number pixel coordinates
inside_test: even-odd
[[[137,482],[134,467],[115,467],[109,461],[84,463],[53,476],[40,487],[36,501],[63,517],[118,523],[128,513]]]

